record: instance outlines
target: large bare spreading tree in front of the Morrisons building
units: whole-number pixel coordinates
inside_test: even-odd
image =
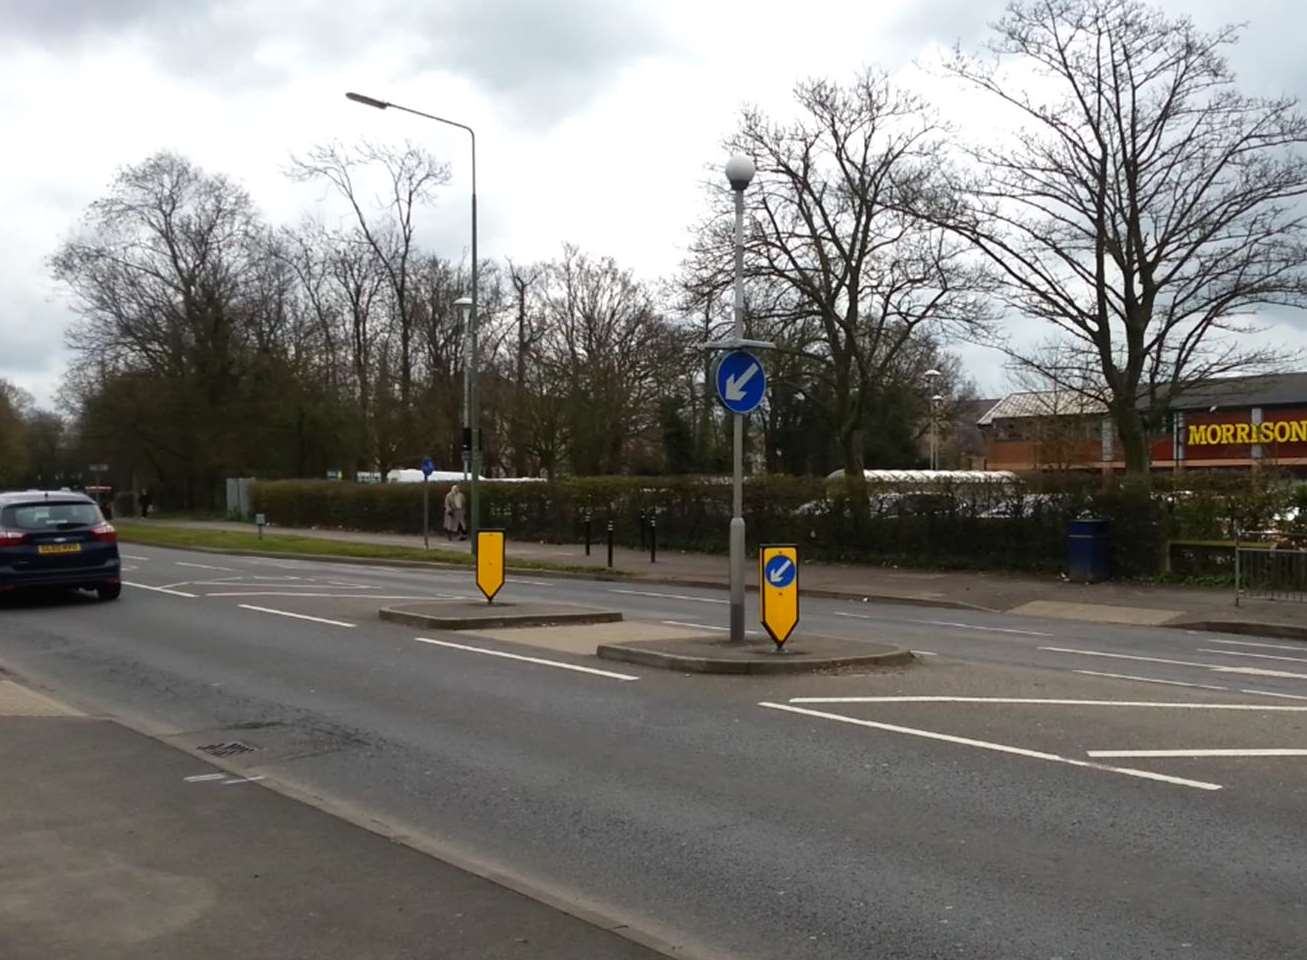
[[[1137,0],[1017,0],[996,31],[993,60],[949,67],[1021,129],[972,148],[966,200],[941,209],[1008,307],[1095,359],[1127,470],[1145,473],[1185,389],[1280,357],[1249,342],[1255,311],[1307,300],[1307,121],[1235,89],[1235,27]]]

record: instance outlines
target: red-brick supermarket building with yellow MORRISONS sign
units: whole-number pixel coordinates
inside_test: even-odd
[[[1063,391],[1010,393],[976,419],[987,470],[1125,468],[1107,409]],[[1208,380],[1189,389],[1149,440],[1154,470],[1263,465],[1307,474],[1307,374]]]

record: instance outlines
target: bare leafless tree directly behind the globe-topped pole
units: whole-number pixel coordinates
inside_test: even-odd
[[[877,384],[915,337],[979,334],[983,277],[966,244],[904,212],[932,188],[941,135],[916,97],[868,72],[847,86],[802,82],[795,98],[799,120],[748,110],[728,142],[758,170],[748,269],[761,315],[816,321],[810,353],[834,400],[846,475],[860,483]],[[724,234],[716,246],[725,263]]]

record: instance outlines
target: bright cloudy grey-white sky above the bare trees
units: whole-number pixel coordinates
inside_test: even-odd
[[[1290,0],[1165,0],[1200,25],[1248,24],[1248,93],[1307,93]],[[359,90],[476,127],[482,256],[563,240],[655,278],[676,268],[702,183],[744,103],[784,114],[801,77],[876,64],[923,76],[975,48],[1002,0],[0,0],[0,377],[51,402],[69,319],[46,257],[114,171],[171,149],[243,183],[273,222],[322,201],[288,157],[328,140],[413,138],[454,170],[423,242],[467,247],[467,140],[344,98]],[[957,116],[970,129],[983,118]],[[1307,317],[1272,336],[1307,342]],[[1000,364],[963,350],[982,389]]]

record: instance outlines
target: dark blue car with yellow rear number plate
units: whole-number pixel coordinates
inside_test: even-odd
[[[84,494],[0,492],[0,593],[41,586],[116,598],[118,532]]]

